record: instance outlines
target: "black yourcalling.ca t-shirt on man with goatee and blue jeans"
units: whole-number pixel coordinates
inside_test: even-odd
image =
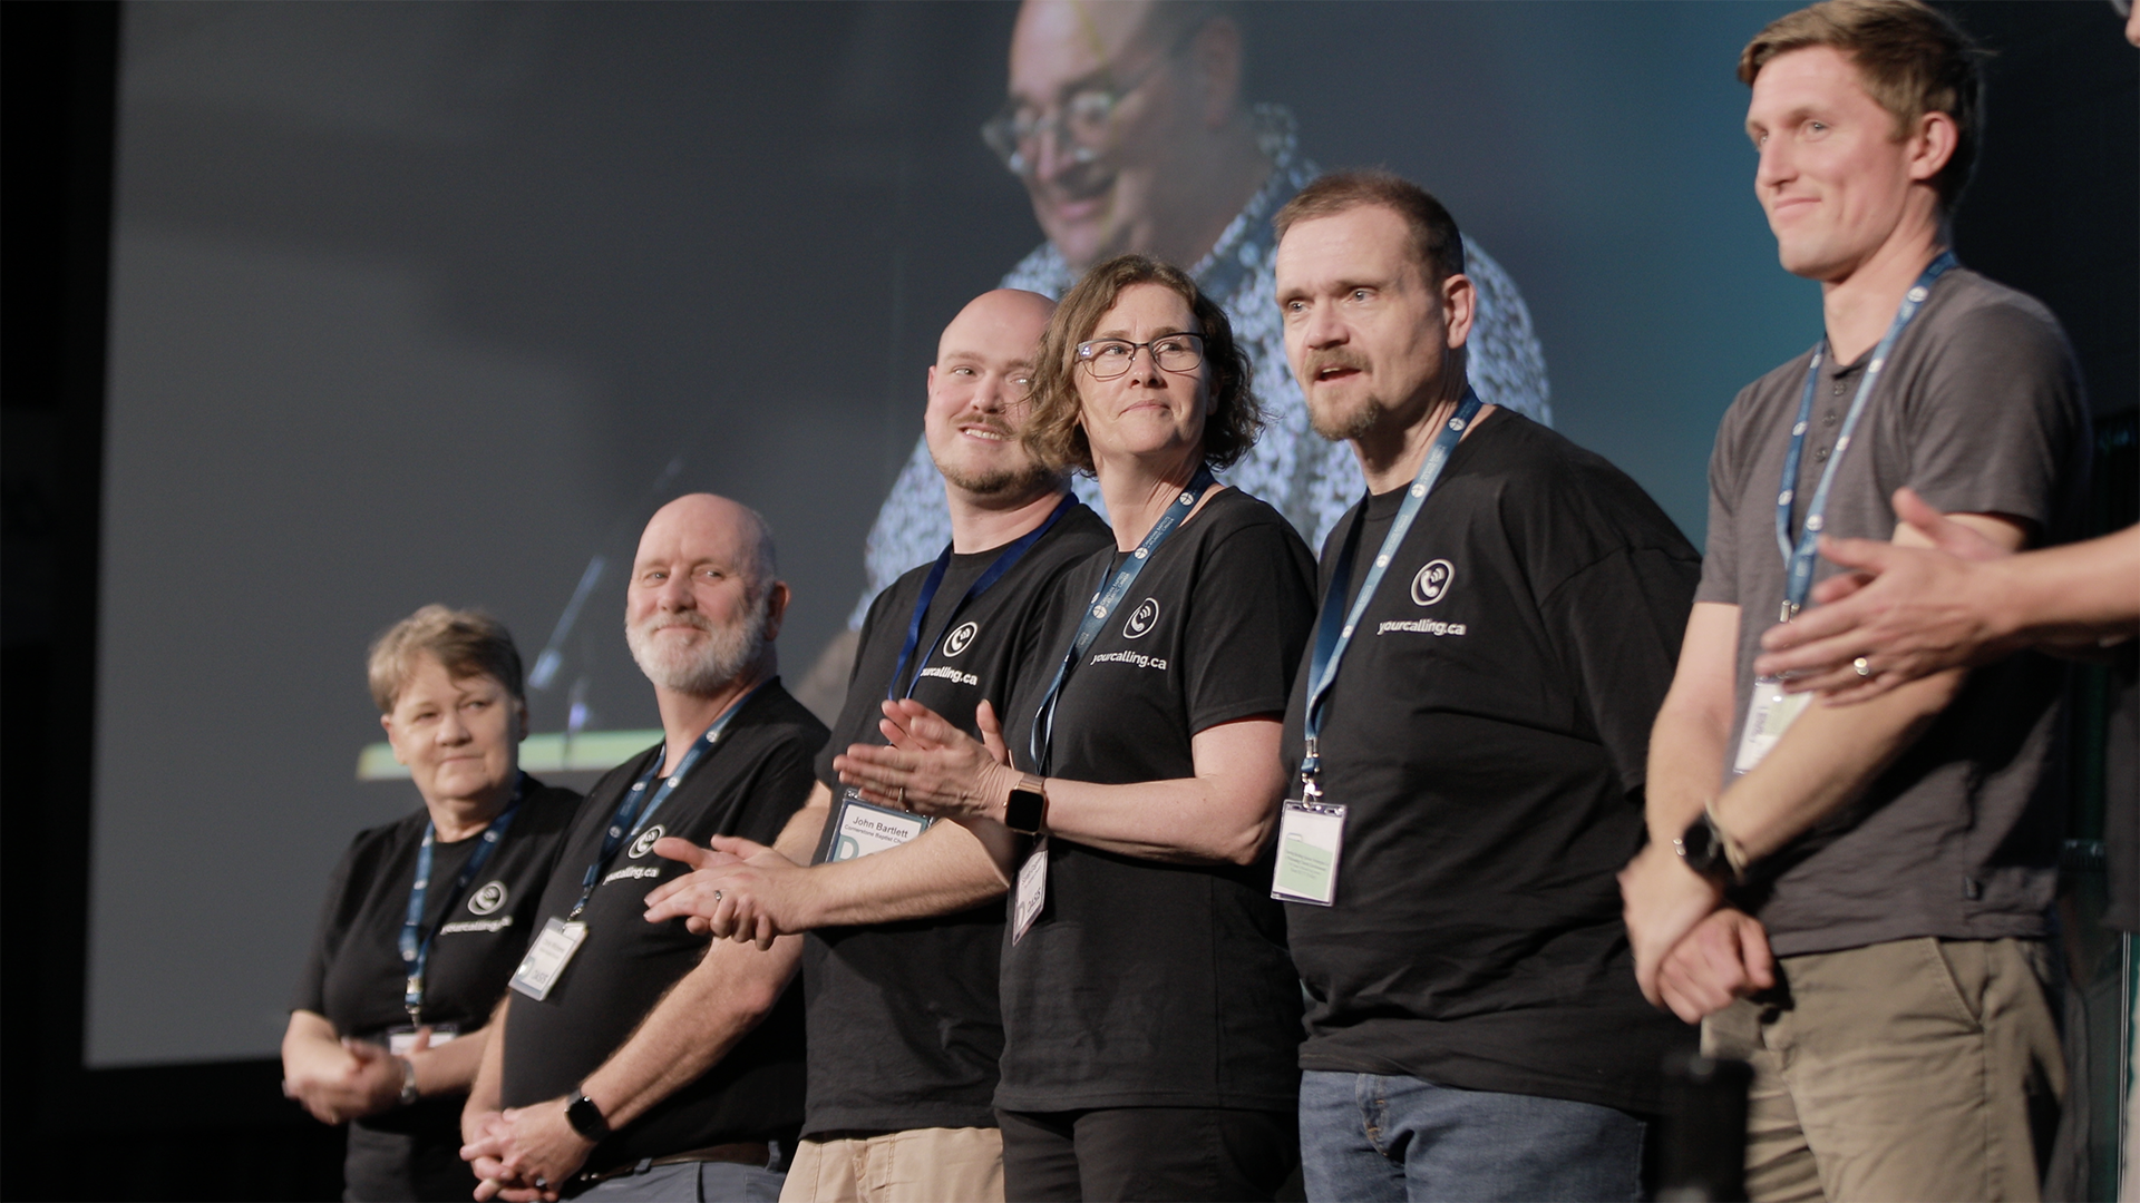
[[[1404,492],[1367,501],[1346,604]],[[1693,1030],[1635,989],[1614,873],[1644,841],[1699,572],[1633,479],[1560,435],[1502,409],[1457,443],[1323,706],[1323,798],[1348,813],[1335,905],[1286,905],[1303,1068],[1661,1109]],[[1301,668],[1293,781],[1305,696]]]

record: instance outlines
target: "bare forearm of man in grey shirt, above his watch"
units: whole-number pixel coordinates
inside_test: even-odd
[[[1935,672],[1851,709],[1808,706],[1716,801],[1716,822],[1761,861],[1851,805],[1939,717],[1962,670]]]

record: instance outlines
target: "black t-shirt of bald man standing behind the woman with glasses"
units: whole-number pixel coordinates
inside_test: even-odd
[[[1064,574],[1113,542],[1106,522],[1076,505],[963,608],[967,587],[1002,548],[954,554],[922,619],[920,638],[929,642],[916,646],[899,691],[912,681],[916,702],[978,736],[974,709],[982,698],[1002,715],[1027,676],[1055,670],[1053,659],[1034,666],[1044,659],[1040,640],[1051,629]],[[869,606],[847,702],[817,756],[817,779],[835,798],[845,798],[845,788],[832,773],[832,756],[854,743],[884,743],[877,706],[899,668],[929,569],[901,576]],[[828,858],[837,820],[839,803],[817,848],[820,863]],[[939,918],[813,931],[802,944],[809,1006],[802,1132],[993,1128],[995,1062],[1004,1053],[1002,942],[1004,903],[995,899]]]

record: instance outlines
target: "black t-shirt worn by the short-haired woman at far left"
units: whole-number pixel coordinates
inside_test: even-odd
[[[541,931],[535,908],[578,807],[580,794],[529,777],[505,839],[458,899],[449,897],[452,884],[482,837],[432,846],[424,929],[439,935],[424,963],[426,1023],[473,1032],[490,1019],[531,935]],[[327,880],[327,905],[291,1010],[325,1015],[338,1034],[377,1042],[409,1023],[400,931],[428,828],[430,813],[417,809],[349,843]],[[454,914],[445,914],[447,905]],[[462,1094],[432,1096],[357,1120],[345,1164],[351,1197],[364,1203],[467,1199],[475,1179],[460,1160],[462,1100]]]

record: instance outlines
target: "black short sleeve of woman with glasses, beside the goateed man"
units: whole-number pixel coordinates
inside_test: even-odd
[[[1211,546],[1183,640],[1190,734],[1286,711],[1314,625],[1314,582],[1308,544],[1290,527],[1258,522]]]

